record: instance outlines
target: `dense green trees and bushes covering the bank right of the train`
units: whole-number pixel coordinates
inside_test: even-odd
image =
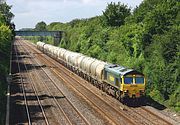
[[[61,47],[143,72],[147,95],[180,111],[180,2],[144,0],[130,12],[110,3],[101,16],[46,29],[65,31]]]

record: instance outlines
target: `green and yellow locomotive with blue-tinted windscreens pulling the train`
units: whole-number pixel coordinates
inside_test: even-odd
[[[109,64],[104,69],[104,81],[117,89],[121,99],[140,98],[145,93],[144,75],[133,69]]]

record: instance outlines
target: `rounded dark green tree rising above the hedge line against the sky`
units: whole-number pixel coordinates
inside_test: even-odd
[[[118,2],[118,4],[111,2],[103,12],[105,24],[108,26],[123,25],[125,18],[131,14],[130,10],[127,5],[121,4],[120,2]]]

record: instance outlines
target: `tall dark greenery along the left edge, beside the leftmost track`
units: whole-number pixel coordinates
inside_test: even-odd
[[[9,69],[10,44],[14,26],[11,24],[13,14],[6,3],[0,4],[0,124],[4,125],[6,113],[6,76]]]

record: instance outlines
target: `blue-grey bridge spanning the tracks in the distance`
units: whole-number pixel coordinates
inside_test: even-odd
[[[54,45],[59,45],[63,31],[15,31],[16,36],[52,36]]]

